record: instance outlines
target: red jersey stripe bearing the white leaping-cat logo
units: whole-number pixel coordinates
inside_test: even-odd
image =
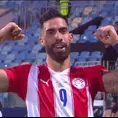
[[[54,117],[54,95],[53,85],[50,79],[50,73],[46,65],[39,67],[39,101],[40,101],[40,116],[41,117]],[[42,81],[43,80],[43,81]],[[45,83],[47,82],[47,84]]]

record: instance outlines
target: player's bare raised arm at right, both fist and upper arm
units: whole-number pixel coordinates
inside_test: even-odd
[[[101,27],[96,31],[95,36],[104,44],[113,47],[118,44],[118,35],[113,26]],[[106,92],[118,93],[118,71],[103,72],[103,83]]]

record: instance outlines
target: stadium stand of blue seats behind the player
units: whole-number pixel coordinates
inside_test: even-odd
[[[112,25],[118,19],[118,2],[117,1],[74,1],[70,0],[71,3],[71,11],[68,17],[70,30],[82,25],[89,20],[102,16],[104,19],[99,27],[105,25]],[[0,67],[12,67],[23,62],[30,62],[33,64],[45,63],[46,55],[42,51],[43,47],[38,43],[40,36],[40,24],[38,18],[42,14],[42,12],[46,11],[50,6],[48,6],[48,1],[14,1],[14,0],[6,0],[0,1],[0,14],[5,9],[12,8],[12,12],[14,16],[12,16],[12,21],[15,21],[17,24],[23,28],[26,37],[24,40],[17,42],[4,42],[0,46]],[[29,7],[30,6],[30,7]],[[61,10],[61,12],[63,12]],[[68,12],[68,11],[67,11]],[[66,15],[67,13],[65,13]],[[7,14],[5,14],[7,15]],[[1,16],[0,16],[1,19]],[[9,19],[9,17],[7,17]],[[11,19],[10,19],[11,21]],[[97,29],[96,25],[91,25],[87,28],[84,34],[74,35],[75,40],[73,42],[74,45],[78,44],[89,44],[93,43],[99,45],[98,39],[96,39],[93,35]],[[93,48],[88,47],[88,48]],[[101,58],[103,56],[104,50],[97,51],[93,50],[89,52],[88,50],[77,50],[76,52],[71,53],[71,59],[73,65],[79,66],[90,66],[101,63]],[[8,104],[4,103],[4,95],[5,99],[9,99],[12,94],[1,94],[1,100],[3,105],[6,107]],[[18,99],[18,98],[17,98]],[[103,98],[100,98],[103,99]],[[8,100],[7,100],[8,101]],[[11,102],[13,100],[10,100]],[[99,101],[98,101],[99,102]],[[101,107],[103,106],[103,102],[100,103]],[[96,103],[97,105],[97,103]],[[15,104],[14,104],[15,106]],[[10,104],[9,104],[10,107]],[[9,110],[6,110],[6,113]],[[12,110],[11,110],[12,111]],[[14,112],[14,111],[13,111]],[[10,113],[10,112],[9,112]],[[25,112],[23,112],[24,116]],[[102,114],[101,112],[98,114]],[[20,112],[19,112],[19,115]]]

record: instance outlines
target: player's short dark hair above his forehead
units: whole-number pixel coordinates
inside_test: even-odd
[[[41,27],[43,27],[43,24],[53,18],[56,17],[60,17],[62,19],[64,19],[66,21],[66,23],[68,24],[68,20],[65,16],[63,16],[61,13],[59,13],[58,10],[54,9],[54,8],[50,8],[48,9],[40,18],[40,25]]]

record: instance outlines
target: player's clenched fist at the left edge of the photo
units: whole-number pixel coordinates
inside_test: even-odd
[[[0,30],[0,36],[2,37],[0,42],[3,42],[5,40],[20,40],[25,35],[22,34],[22,30],[17,24],[10,22]]]

